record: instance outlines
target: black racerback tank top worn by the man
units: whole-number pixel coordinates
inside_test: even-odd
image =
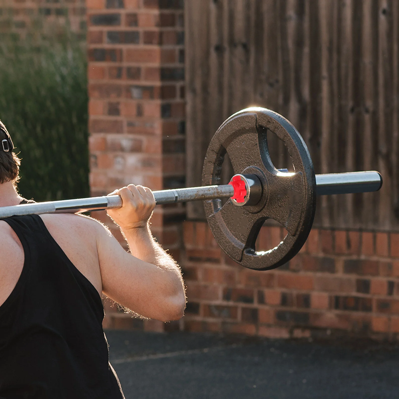
[[[109,363],[97,290],[40,216],[1,220],[18,235],[25,262],[0,306],[0,399],[124,398]]]

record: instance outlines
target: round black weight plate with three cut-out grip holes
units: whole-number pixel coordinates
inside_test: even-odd
[[[269,156],[267,130],[284,142],[294,173],[279,172]],[[247,108],[229,117],[213,136],[203,164],[202,185],[220,184],[221,166],[229,154],[234,174],[256,174],[262,196],[256,205],[238,207],[229,200],[204,201],[211,231],[229,257],[256,270],[274,269],[288,262],[305,243],[316,209],[316,178],[302,137],[281,115],[265,108]],[[256,252],[263,222],[275,219],[287,234],[280,244]]]

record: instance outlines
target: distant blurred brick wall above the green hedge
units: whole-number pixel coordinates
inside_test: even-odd
[[[29,32],[53,34],[68,23],[78,38],[85,39],[85,0],[0,0],[0,33],[25,38]]]

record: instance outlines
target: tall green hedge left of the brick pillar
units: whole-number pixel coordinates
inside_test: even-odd
[[[72,34],[0,44],[0,119],[22,158],[19,192],[89,196],[86,52]]]

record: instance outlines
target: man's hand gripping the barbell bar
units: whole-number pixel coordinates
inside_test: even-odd
[[[122,198],[122,207],[108,209],[108,215],[123,231],[147,226],[155,207],[154,194],[148,187],[129,184],[108,195],[119,195]]]

